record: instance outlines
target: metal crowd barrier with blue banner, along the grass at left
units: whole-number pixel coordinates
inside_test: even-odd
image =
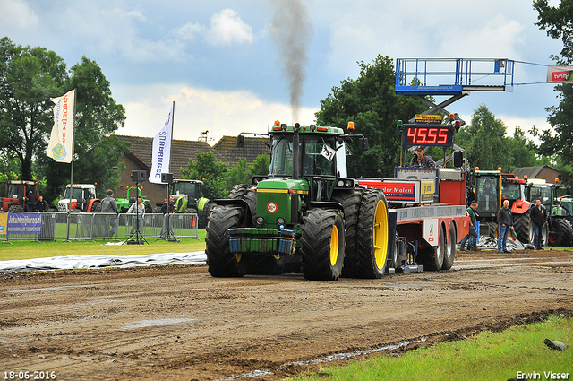
[[[40,234],[9,234],[7,224],[2,225],[2,214],[6,220],[12,213],[0,212],[0,240],[10,241],[18,239],[55,240],[68,238],[68,215],[69,239],[119,239],[130,238],[135,231],[135,214],[114,213],[83,213],[83,212],[38,212],[42,217]],[[18,212],[18,214],[31,215],[35,212]],[[110,237],[112,219],[117,221],[115,234]],[[176,238],[199,238],[199,218],[197,214],[175,213],[169,215],[169,224]],[[162,237],[167,228],[167,215],[146,213],[140,216],[139,229],[144,238]]]

